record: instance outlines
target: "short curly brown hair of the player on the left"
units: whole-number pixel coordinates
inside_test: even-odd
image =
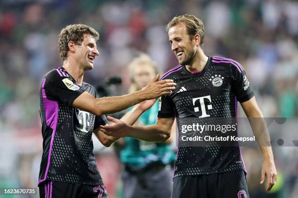
[[[67,59],[67,53],[69,51],[68,43],[73,41],[75,45],[81,45],[84,40],[84,33],[90,34],[95,41],[99,39],[99,33],[92,27],[84,24],[68,25],[61,30],[58,36],[58,48],[62,61]]]

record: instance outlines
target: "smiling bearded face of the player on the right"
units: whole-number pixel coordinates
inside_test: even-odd
[[[188,35],[186,25],[179,23],[171,27],[168,30],[168,39],[179,64],[191,64],[196,54],[196,45],[195,39],[191,39]]]

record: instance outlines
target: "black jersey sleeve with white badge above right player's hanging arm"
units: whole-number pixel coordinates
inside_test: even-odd
[[[254,92],[246,77],[246,73],[242,66],[239,68],[234,67],[234,93],[239,102],[245,102],[254,96]]]

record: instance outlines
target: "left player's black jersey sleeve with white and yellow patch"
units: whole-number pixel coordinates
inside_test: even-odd
[[[55,70],[45,78],[44,89],[47,98],[60,100],[67,106],[70,106],[84,92],[70,78],[55,74]]]

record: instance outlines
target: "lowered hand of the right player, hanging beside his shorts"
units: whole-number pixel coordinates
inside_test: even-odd
[[[261,171],[261,184],[265,181],[267,176],[268,184],[266,187],[267,192],[271,190],[277,180],[277,171],[273,160],[264,160]]]

